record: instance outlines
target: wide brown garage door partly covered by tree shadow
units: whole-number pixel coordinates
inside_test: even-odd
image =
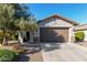
[[[41,42],[68,42],[68,28],[41,28]]]

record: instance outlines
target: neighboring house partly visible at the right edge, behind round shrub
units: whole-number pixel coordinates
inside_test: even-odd
[[[75,32],[77,32],[77,31],[84,32],[85,33],[84,41],[87,41],[87,24],[83,24],[83,25],[75,26]]]

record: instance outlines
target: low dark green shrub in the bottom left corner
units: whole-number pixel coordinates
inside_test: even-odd
[[[0,62],[14,62],[18,54],[10,50],[0,50]]]

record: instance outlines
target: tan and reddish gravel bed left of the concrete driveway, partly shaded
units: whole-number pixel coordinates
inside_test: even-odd
[[[23,48],[25,48],[26,52],[19,56],[19,62],[43,62],[40,45],[26,45],[23,46]]]

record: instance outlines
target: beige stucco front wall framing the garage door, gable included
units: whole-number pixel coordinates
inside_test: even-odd
[[[61,20],[61,19],[50,19],[47,21],[43,21],[39,24],[39,29],[37,31],[34,33],[34,36],[37,36],[40,37],[40,28],[69,28],[68,32],[69,32],[69,42],[70,42],[70,35],[72,35],[72,28],[73,28],[73,24],[64,21],[64,20]],[[40,39],[39,39],[40,40]]]

